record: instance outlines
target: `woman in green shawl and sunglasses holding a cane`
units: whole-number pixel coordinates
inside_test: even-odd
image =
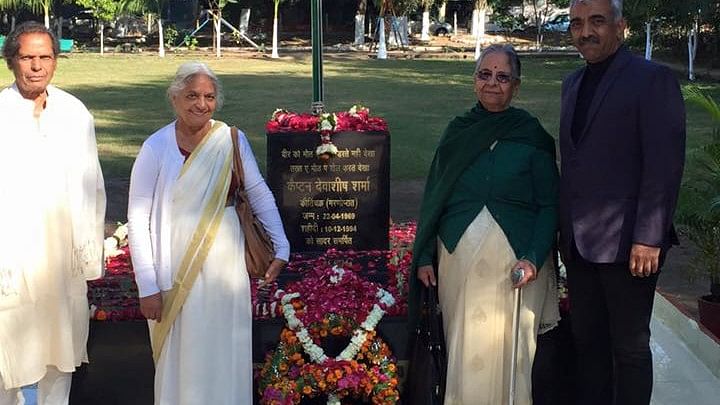
[[[486,48],[475,68],[478,103],[448,125],[425,186],[409,315],[416,322],[419,289],[437,285],[446,405],[508,402],[513,288],[523,289],[516,404],[532,403],[536,336],[559,319],[555,142],[537,118],[510,106],[519,87],[514,49]],[[513,285],[515,268],[524,277]]]

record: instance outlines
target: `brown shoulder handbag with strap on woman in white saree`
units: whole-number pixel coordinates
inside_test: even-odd
[[[275,258],[272,240],[265,232],[265,227],[253,214],[250,208],[247,191],[245,190],[245,173],[238,149],[238,130],[230,128],[233,142],[232,175],[237,182],[235,190],[235,211],[237,211],[240,227],[245,234],[245,267],[252,278],[264,278],[270,262]]]

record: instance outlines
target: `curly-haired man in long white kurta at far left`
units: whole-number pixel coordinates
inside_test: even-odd
[[[0,405],[67,404],[87,362],[87,279],[102,269],[105,191],[93,118],[49,85],[58,44],[44,26],[12,32],[0,92]]]

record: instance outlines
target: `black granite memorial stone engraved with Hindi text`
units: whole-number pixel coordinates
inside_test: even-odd
[[[292,251],[387,249],[389,134],[335,133],[328,160],[316,155],[319,142],[317,133],[267,135],[267,182]]]

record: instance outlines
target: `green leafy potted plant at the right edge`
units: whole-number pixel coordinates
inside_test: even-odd
[[[715,128],[710,142],[694,151],[680,191],[680,231],[697,248],[691,279],[710,282],[710,294],[698,299],[700,323],[720,337],[720,106],[699,88],[684,89],[688,102],[702,107]]]

